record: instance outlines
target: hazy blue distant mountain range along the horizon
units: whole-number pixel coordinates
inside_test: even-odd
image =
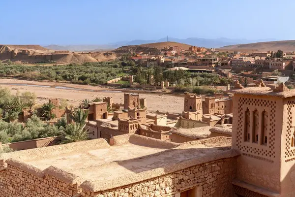
[[[186,39],[178,39],[169,37],[169,41],[171,42],[179,42],[188,45],[194,45],[199,47],[206,48],[219,48],[227,45],[235,45],[235,44],[248,44],[254,42],[268,42],[268,41],[276,41],[276,39],[257,39],[257,40],[247,40],[247,39],[230,39],[230,38],[217,38],[217,39],[207,39],[207,38],[197,38],[190,37]],[[70,51],[98,51],[98,50],[112,50],[121,46],[126,45],[140,45],[140,44],[148,44],[154,42],[165,42],[167,38],[161,38],[158,40],[131,40],[131,41],[119,41],[109,44],[95,44],[95,45],[48,45],[44,46],[47,49],[51,50],[70,50]]]

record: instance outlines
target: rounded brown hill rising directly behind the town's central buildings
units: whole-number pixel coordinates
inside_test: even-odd
[[[182,44],[179,42],[155,42],[155,43],[149,43],[149,44],[141,44],[141,45],[128,45],[128,46],[122,46],[118,49],[113,50],[113,52],[116,53],[130,53],[130,52],[153,52],[157,50],[164,49],[165,47],[169,46],[181,46],[183,49],[188,50],[188,47],[191,45],[188,44]]]

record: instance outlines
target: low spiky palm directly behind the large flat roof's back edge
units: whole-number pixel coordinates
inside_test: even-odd
[[[88,130],[81,127],[79,123],[69,124],[64,128],[61,128],[59,132],[61,144],[84,141],[89,138]]]

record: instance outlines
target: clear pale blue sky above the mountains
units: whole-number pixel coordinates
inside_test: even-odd
[[[0,44],[295,39],[295,0],[0,0]]]

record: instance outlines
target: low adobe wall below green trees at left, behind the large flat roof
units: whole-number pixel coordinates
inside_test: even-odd
[[[41,147],[51,146],[51,145],[57,144],[58,142],[59,142],[58,137],[45,137],[45,138],[39,138],[39,139],[31,139],[26,141],[2,144],[2,146],[8,146],[9,148],[12,148],[13,150],[26,150],[26,149],[32,149],[32,148],[41,148]]]

